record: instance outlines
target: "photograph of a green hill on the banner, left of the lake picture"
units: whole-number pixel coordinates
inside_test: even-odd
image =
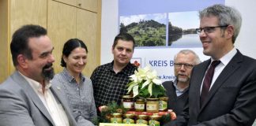
[[[166,13],[120,17],[120,32],[134,36],[136,46],[166,46]]]

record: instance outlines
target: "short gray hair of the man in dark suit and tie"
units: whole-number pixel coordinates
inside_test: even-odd
[[[234,27],[234,35],[232,36],[232,43],[239,35],[242,24],[242,17],[239,11],[235,8],[224,5],[209,6],[202,11],[199,11],[199,18],[214,16],[219,19],[219,25],[232,25]]]

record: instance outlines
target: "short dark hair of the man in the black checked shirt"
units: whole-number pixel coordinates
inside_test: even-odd
[[[134,41],[134,37],[126,32],[121,32],[119,33],[119,35],[116,35],[115,36],[115,39],[114,39],[114,43],[112,45],[113,48],[115,48],[116,44],[118,43],[119,39],[121,40],[124,40],[124,41],[132,41],[134,44],[133,44],[133,50],[134,50],[134,47],[135,47],[135,41]]]

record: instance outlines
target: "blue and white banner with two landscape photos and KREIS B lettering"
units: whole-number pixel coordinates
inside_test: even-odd
[[[119,30],[134,36],[132,63],[156,69],[161,80],[174,80],[173,58],[179,50],[194,50],[201,61],[198,11],[224,0],[119,0]]]

